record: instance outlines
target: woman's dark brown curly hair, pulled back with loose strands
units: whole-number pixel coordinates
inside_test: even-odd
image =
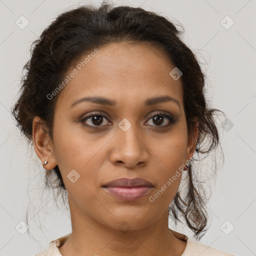
[[[182,29],[178,30],[178,26]],[[129,41],[157,46],[182,71],[187,132],[192,130],[197,120],[196,151],[200,160],[211,151],[216,151],[214,149],[218,146],[221,148],[214,115],[223,112],[207,105],[206,76],[195,54],[179,38],[182,30],[182,25],[174,25],[167,17],[156,12],[141,7],[114,7],[105,1],[98,8],[89,4],[62,12],[32,43],[30,59],[22,70],[19,97],[11,107],[16,126],[27,143],[32,145],[32,121],[35,116],[43,120],[45,131],[52,138],[54,107],[59,93],[52,100],[48,99],[47,94],[63,81],[72,64],[91,49],[111,42]],[[216,156],[214,159],[216,164]],[[169,205],[169,216],[175,225],[178,221],[182,222],[180,217],[183,217],[193,236],[200,239],[207,230],[208,213],[205,207],[208,198],[202,186],[204,181],[196,178],[199,172],[196,164],[199,166],[198,159],[188,165],[186,179],[184,182],[181,180]],[[213,170],[215,174],[216,167]],[[45,172],[46,187],[57,188],[62,198],[66,196],[57,165],[52,171]]]

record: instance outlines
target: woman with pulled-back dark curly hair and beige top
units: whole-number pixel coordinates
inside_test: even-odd
[[[12,114],[72,224],[37,255],[230,255],[168,228],[170,216],[196,239],[207,230],[194,167],[220,146],[219,110],[180,33],[103,2],[61,13],[33,43]]]

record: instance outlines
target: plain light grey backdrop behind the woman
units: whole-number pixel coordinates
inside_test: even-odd
[[[234,255],[256,255],[256,0],[113,2],[179,21],[184,42],[206,62],[207,94],[212,106],[226,113],[228,126],[221,131],[224,164],[208,204],[211,226],[200,242]],[[23,142],[10,106],[31,42],[62,10],[86,3],[0,0],[0,255],[33,255],[71,230],[68,211],[56,209],[50,194],[42,195],[44,169]],[[23,29],[16,24],[20,16],[29,22]],[[28,207],[31,239],[25,229],[22,234]],[[175,229],[171,221],[169,226]],[[176,230],[192,235],[186,227]]]

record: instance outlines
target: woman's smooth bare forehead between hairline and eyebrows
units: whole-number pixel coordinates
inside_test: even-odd
[[[61,89],[59,104],[70,105],[81,96],[131,102],[167,94],[182,105],[181,78],[174,80],[169,75],[175,65],[164,51],[147,42],[110,43],[97,50],[96,54],[87,52],[70,67],[66,75],[75,75]]]

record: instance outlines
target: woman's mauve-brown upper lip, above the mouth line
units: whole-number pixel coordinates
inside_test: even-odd
[[[122,187],[149,186],[149,187],[152,187],[153,184],[146,179],[136,177],[132,179],[129,179],[129,178],[114,179],[102,186],[122,186]]]

